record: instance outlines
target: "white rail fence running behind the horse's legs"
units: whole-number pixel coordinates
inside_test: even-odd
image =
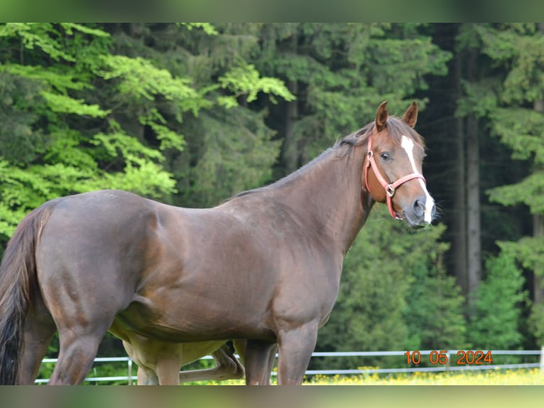
[[[346,352],[314,352],[312,358],[327,358],[327,357],[386,357],[386,356],[405,356],[407,359],[410,355],[406,353],[414,353],[414,351],[346,351]],[[544,372],[544,347],[541,350],[420,350],[417,351],[418,356],[421,356],[421,362],[430,363],[431,367],[397,367],[397,368],[357,368],[349,370],[307,370],[306,375],[360,375],[371,373],[393,373],[393,372],[430,372],[430,371],[461,371],[461,370],[518,370],[526,368],[540,367],[540,370]],[[459,364],[459,355],[462,357],[463,353],[466,356],[467,353],[472,353],[472,361],[465,359],[464,364]],[[538,358],[539,363],[517,363],[517,364],[488,364],[482,359],[477,363],[476,356],[474,354],[486,355],[490,353],[491,358],[497,355],[533,355],[540,356]],[[469,354],[470,355],[470,354]],[[428,356],[424,359],[424,356]],[[430,357],[434,356],[435,363],[430,360]],[[442,359],[439,359],[439,356]],[[277,355],[276,355],[277,357]],[[211,359],[210,356],[202,358],[203,360]],[[56,363],[56,358],[45,358],[42,363]],[[104,381],[126,381],[127,384],[134,384],[137,380],[136,367],[134,367],[132,360],[129,357],[102,357],[95,358],[94,363],[111,363],[111,362],[125,362],[127,374],[119,377],[87,377],[86,382],[104,382]],[[406,365],[408,365],[408,360]],[[273,375],[276,375],[273,372]],[[48,382],[48,379],[38,379],[36,383]]]

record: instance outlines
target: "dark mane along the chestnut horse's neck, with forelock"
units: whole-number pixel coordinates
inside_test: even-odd
[[[403,122],[398,117],[390,116],[388,117],[386,121],[386,127],[389,133],[389,136],[391,136],[391,139],[394,144],[401,144],[401,138],[403,135],[409,136],[415,143],[420,144],[425,148],[425,141],[423,140],[423,137],[418,134],[417,131],[415,131],[412,127],[408,126],[405,122]],[[263,186],[259,188],[254,188],[252,190],[246,190],[242,191],[241,193],[238,193],[236,195],[233,195],[231,198],[228,198],[225,200],[225,202],[233,200],[234,198],[241,197],[243,195],[248,195],[251,193],[258,193],[262,192],[264,190],[268,190],[270,188],[278,188],[281,186],[285,186],[286,184],[293,181],[293,179],[298,178],[301,173],[305,173],[308,168],[311,168],[315,166],[317,163],[325,159],[325,157],[329,156],[332,152],[336,153],[337,158],[342,158],[349,154],[349,152],[352,151],[352,149],[355,146],[360,146],[361,144],[366,144],[366,141],[369,139],[369,134],[371,129],[374,128],[374,122],[370,122],[369,124],[366,124],[364,127],[361,127],[361,129],[354,131],[352,134],[348,134],[347,136],[342,137],[341,139],[337,140],[336,143],[329,149],[325,150],[317,156],[312,161],[306,163],[304,166],[300,167],[298,170],[294,171],[293,173],[288,174],[287,176],[279,179],[278,181],[275,181],[274,183],[269,184],[268,186]]]

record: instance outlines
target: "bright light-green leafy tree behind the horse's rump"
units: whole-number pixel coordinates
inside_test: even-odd
[[[14,90],[20,95],[11,98],[7,112],[23,122],[6,121],[23,130],[0,134],[1,234],[11,235],[28,210],[60,195],[97,188],[125,188],[155,197],[173,192],[161,151],[148,148],[119,125],[112,100],[94,103],[99,98],[89,96],[99,81],[120,94],[126,87],[115,71],[119,55],[108,54],[108,33],[72,23],[8,23],[0,26],[0,41],[6,61],[0,66],[2,88],[9,89],[12,81],[23,84]],[[147,76],[135,92],[145,92],[158,81],[161,70],[145,68]],[[154,89],[148,97],[165,92]]]

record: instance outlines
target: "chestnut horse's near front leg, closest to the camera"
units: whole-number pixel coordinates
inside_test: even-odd
[[[278,385],[301,385],[317,342],[317,323],[278,333]]]

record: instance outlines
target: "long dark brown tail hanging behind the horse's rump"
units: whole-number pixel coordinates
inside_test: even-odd
[[[36,287],[36,245],[53,211],[29,213],[8,242],[0,264],[0,385],[15,384],[23,350],[23,326]]]

